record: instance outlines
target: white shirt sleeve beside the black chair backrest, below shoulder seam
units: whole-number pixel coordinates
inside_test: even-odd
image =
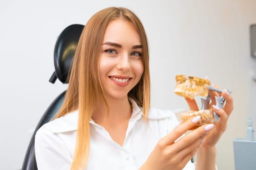
[[[38,170],[70,170],[72,156],[58,134],[42,126],[35,136],[35,155]]]

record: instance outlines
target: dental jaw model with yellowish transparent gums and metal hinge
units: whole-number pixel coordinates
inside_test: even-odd
[[[188,119],[196,116],[201,116],[201,119],[199,120],[197,126],[195,126],[193,129],[196,129],[198,126],[201,126],[206,123],[214,123],[217,122],[219,119],[219,116],[213,112],[213,109],[209,109],[209,104],[211,101],[211,96],[208,93],[209,91],[217,91],[218,93],[221,93],[222,90],[218,89],[212,85],[210,85],[210,82],[200,79],[193,76],[187,76],[187,75],[177,75],[176,76],[176,87],[175,87],[175,94],[194,99],[196,96],[203,96],[205,98],[201,98],[202,102],[202,109],[199,111],[189,111],[187,113],[180,114],[180,118],[182,122],[187,121]],[[231,92],[231,91],[229,91]],[[223,108],[225,99],[223,96],[217,97],[215,96],[216,105],[219,108]]]

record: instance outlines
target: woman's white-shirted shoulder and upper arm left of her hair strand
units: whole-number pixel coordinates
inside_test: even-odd
[[[38,169],[70,169],[76,143],[76,118],[77,113],[72,112],[39,128],[35,136]]]

